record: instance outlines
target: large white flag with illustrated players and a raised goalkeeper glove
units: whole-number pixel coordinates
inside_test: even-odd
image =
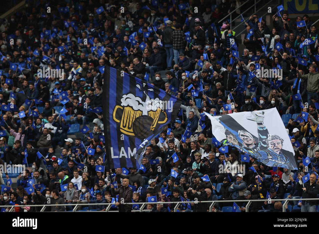
[[[219,142],[270,167],[297,170],[290,138],[276,108],[211,116],[212,133]]]

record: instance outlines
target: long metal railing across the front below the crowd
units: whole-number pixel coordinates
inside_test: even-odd
[[[300,199],[290,199],[290,198],[285,198],[285,199],[275,199],[275,200],[271,200],[271,201],[275,201],[275,202],[282,202],[285,201],[283,206],[282,206],[282,211],[286,212],[286,205],[288,204],[289,201],[318,201],[319,198],[300,198]],[[246,208],[246,212],[249,212],[249,206],[251,205],[252,202],[268,202],[269,199],[263,199],[263,200],[230,200],[230,201],[184,201],[184,202],[130,202],[130,203],[122,203],[122,204],[127,204],[127,205],[142,205],[139,210],[132,210],[132,212],[148,212],[151,210],[143,210],[144,207],[147,204],[176,204],[174,207],[174,212],[177,211],[178,207],[183,204],[183,203],[211,203],[210,207],[209,207],[209,212],[212,212],[212,208],[216,203],[223,203],[223,202],[248,202],[247,205],[245,206]],[[14,208],[16,207],[42,207],[42,209],[40,210],[40,212],[43,212],[45,210],[46,207],[50,207],[50,206],[74,206],[73,208],[73,212],[77,211],[79,206],[102,206],[102,205],[107,205],[107,208],[105,210],[105,212],[118,212],[118,211],[110,211],[111,206],[114,205],[114,203],[83,203],[83,204],[47,204],[47,205],[6,205],[6,206],[0,206],[0,208],[7,208],[7,207],[11,207],[11,209],[9,210],[9,212],[12,212]],[[94,212],[94,211],[91,211]]]

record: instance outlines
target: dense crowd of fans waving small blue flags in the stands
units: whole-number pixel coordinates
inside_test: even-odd
[[[289,18],[280,11],[271,16],[272,27],[250,16],[242,22],[247,32],[239,56],[229,19],[218,23],[243,4],[239,0],[76,2],[29,0],[10,21],[1,19],[0,163],[29,167],[14,184],[3,174],[0,205],[25,205],[14,210],[32,212],[41,207],[28,205],[65,204],[46,208],[65,211],[74,208],[70,203],[94,203],[79,209],[102,211],[112,202],[111,210],[131,211],[140,205],[122,204],[122,198],[195,200],[216,201],[212,210],[221,212],[236,200],[270,197],[269,203],[252,202],[249,211],[279,212],[283,203],[276,199],[319,197],[319,43],[308,15]],[[183,100],[178,117],[146,147],[139,168],[108,167],[101,108],[106,65]],[[269,77],[266,69],[282,73]],[[282,116],[300,170],[254,158],[244,162],[230,146],[221,153],[211,123],[202,128],[199,122],[203,112],[270,108]],[[182,141],[186,128],[193,134]],[[247,202],[237,202],[237,211],[245,212]],[[314,212],[317,204],[290,201],[286,210]],[[178,211],[206,212],[210,205],[182,203]],[[148,203],[145,209],[167,212],[174,206]]]

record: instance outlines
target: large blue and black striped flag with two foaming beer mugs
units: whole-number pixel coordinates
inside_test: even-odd
[[[145,145],[176,118],[181,104],[164,90],[106,66],[103,120],[109,167],[139,168]]]

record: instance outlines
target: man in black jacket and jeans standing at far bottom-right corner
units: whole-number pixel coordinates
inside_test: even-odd
[[[303,190],[302,198],[316,198],[319,193],[319,185],[316,184],[316,174],[312,173],[309,176],[309,181],[302,186],[302,177],[299,175],[299,182],[296,183],[296,189]],[[306,179],[306,178],[305,178]],[[302,201],[301,212],[315,212],[316,211],[316,201]]]

